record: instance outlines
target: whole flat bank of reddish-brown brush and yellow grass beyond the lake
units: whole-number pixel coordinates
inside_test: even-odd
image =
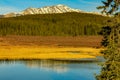
[[[84,59],[101,56],[101,36],[4,36],[0,37],[0,60]]]

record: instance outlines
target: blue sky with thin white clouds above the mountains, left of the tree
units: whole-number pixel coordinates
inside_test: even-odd
[[[101,0],[0,0],[0,14],[19,12],[28,7],[40,8],[57,4],[92,12],[98,11],[96,7],[101,5]]]

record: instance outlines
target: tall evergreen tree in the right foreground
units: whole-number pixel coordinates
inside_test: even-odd
[[[97,80],[120,80],[120,15],[116,14],[119,9],[120,0],[102,1],[104,6],[98,7],[103,9],[102,12],[107,15],[114,14],[111,20],[107,21],[101,34],[104,39],[102,45],[106,50],[102,51],[106,62],[102,65],[101,74],[96,76]]]

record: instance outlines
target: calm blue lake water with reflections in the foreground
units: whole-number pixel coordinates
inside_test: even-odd
[[[93,62],[0,61],[0,80],[95,80],[99,72]]]

